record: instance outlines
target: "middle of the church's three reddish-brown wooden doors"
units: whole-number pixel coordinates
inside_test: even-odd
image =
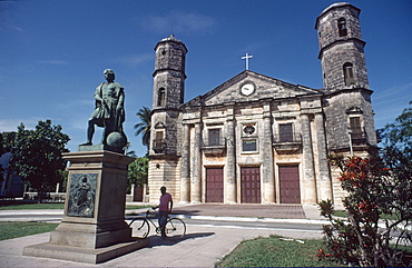
[[[261,169],[259,167],[241,168],[241,202],[261,204]]]

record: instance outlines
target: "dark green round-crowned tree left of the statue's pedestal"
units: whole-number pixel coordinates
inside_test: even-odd
[[[38,190],[39,197],[62,182],[61,170],[67,161],[61,153],[69,151],[66,145],[70,138],[61,130],[50,120],[39,121],[35,130],[27,130],[23,123],[18,127],[9,166]]]

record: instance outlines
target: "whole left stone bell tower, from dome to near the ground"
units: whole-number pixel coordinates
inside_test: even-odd
[[[156,62],[151,107],[149,147],[150,200],[159,197],[158,188],[166,186],[178,200],[179,186],[179,117],[185,95],[185,61],[187,48],[174,34],[155,47]]]

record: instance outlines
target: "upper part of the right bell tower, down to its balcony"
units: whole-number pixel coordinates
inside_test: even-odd
[[[328,152],[367,156],[376,146],[376,133],[360,13],[347,2],[334,3],[317,17],[315,29]]]

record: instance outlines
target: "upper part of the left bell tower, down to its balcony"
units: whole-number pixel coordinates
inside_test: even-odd
[[[176,156],[177,120],[185,96],[187,48],[170,34],[156,44],[155,51],[149,155]]]

